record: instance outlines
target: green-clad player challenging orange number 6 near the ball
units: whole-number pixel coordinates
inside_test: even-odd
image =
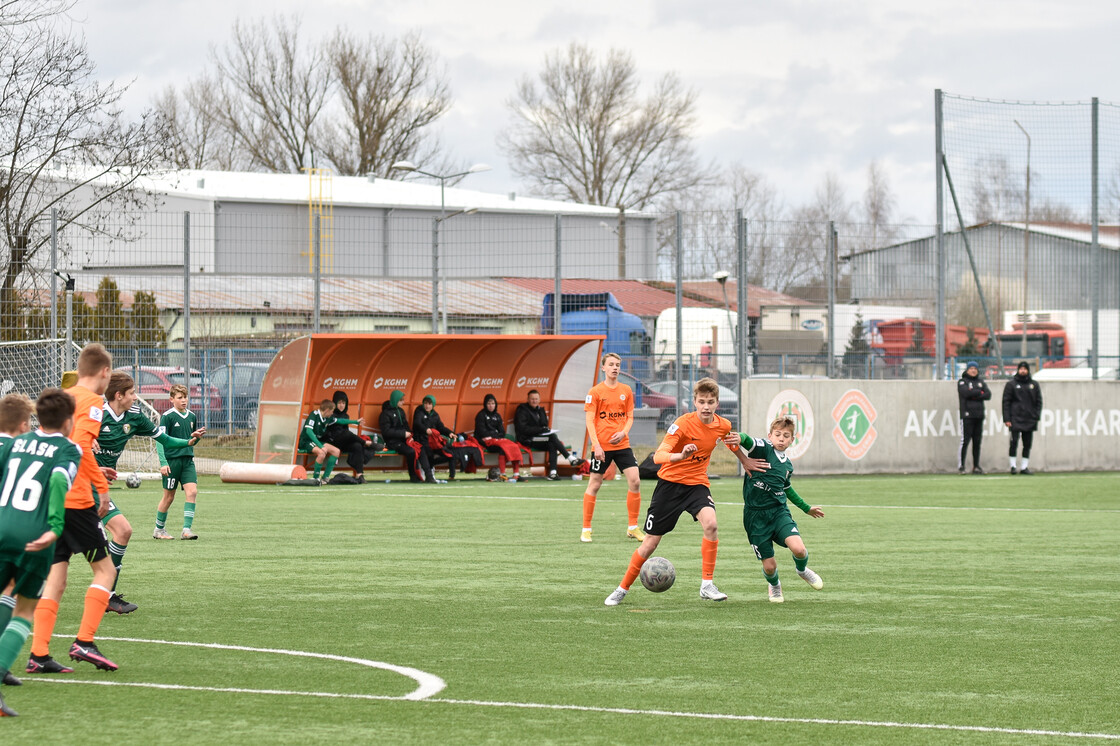
[[[777,560],[774,559],[774,544],[781,544],[793,552],[793,563],[797,575],[820,590],[824,587],[821,576],[809,569],[809,550],[797,531],[797,524],[790,515],[791,503],[812,517],[824,517],[824,511],[819,506],[810,506],[790,484],[793,476],[793,461],[785,450],[793,444],[794,421],[788,417],[778,417],[771,422],[767,438],[752,438],[746,433],[730,432],[725,441],[728,445],[741,446],[735,455],[747,475],[743,479],[743,528],[747,530],[747,540],[755,550],[755,557],[762,560],[763,577],[769,584],[769,599],[781,604],[782,582],[777,578]],[[763,458],[769,464],[765,472],[752,475],[748,460]]]

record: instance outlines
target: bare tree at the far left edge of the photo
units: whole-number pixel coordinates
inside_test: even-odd
[[[123,231],[128,221],[106,214],[147,197],[136,181],[164,147],[155,118],[122,121],[125,88],[97,83],[84,43],[48,21],[0,24],[0,334],[9,337],[22,327],[21,290],[45,276],[52,209],[60,230]]]

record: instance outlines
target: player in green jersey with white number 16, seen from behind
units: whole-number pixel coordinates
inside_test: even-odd
[[[16,607],[0,631],[0,673],[8,673],[31,634],[35,607],[63,533],[66,492],[77,476],[82,451],[67,436],[74,398],[47,389],[36,403],[39,429],[0,446],[0,586],[15,581]],[[0,696],[0,716],[15,716]]]

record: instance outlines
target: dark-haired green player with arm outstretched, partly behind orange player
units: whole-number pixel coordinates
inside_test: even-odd
[[[123,371],[113,371],[109,376],[109,388],[105,389],[105,405],[101,418],[101,431],[94,442],[94,455],[97,458],[97,466],[112,482],[116,478],[116,461],[120,460],[124,446],[131,438],[144,436],[168,448],[186,448],[198,442],[204,433],[205,429],[196,430],[187,438],[172,438],[167,435],[162,426],[152,423],[140,410],[132,376]],[[113,595],[109,597],[109,610],[131,614],[137,610],[137,605],[124,600],[116,593],[116,582],[121,577],[124,551],[132,538],[132,524],[112,501],[109,501],[109,513],[101,519],[101,523],[113,537],[109,540],[109,557],[116,568],[116,580],[113,581],[111,589]]]

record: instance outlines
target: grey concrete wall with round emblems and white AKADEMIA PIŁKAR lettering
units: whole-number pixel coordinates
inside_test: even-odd
[[[792,384],[792,385],[791,385]],[[991,382],[980,464],[1008,470],[1004,383]],[[1042,384],[1032,470],[1120,469],[1120,382]],[[955,381],[743,381],[746,431],[765,437],[780,410],[797,421],[799,474],[953,473],[960,450]],[[971,468],[971,456],[969,456]]]

